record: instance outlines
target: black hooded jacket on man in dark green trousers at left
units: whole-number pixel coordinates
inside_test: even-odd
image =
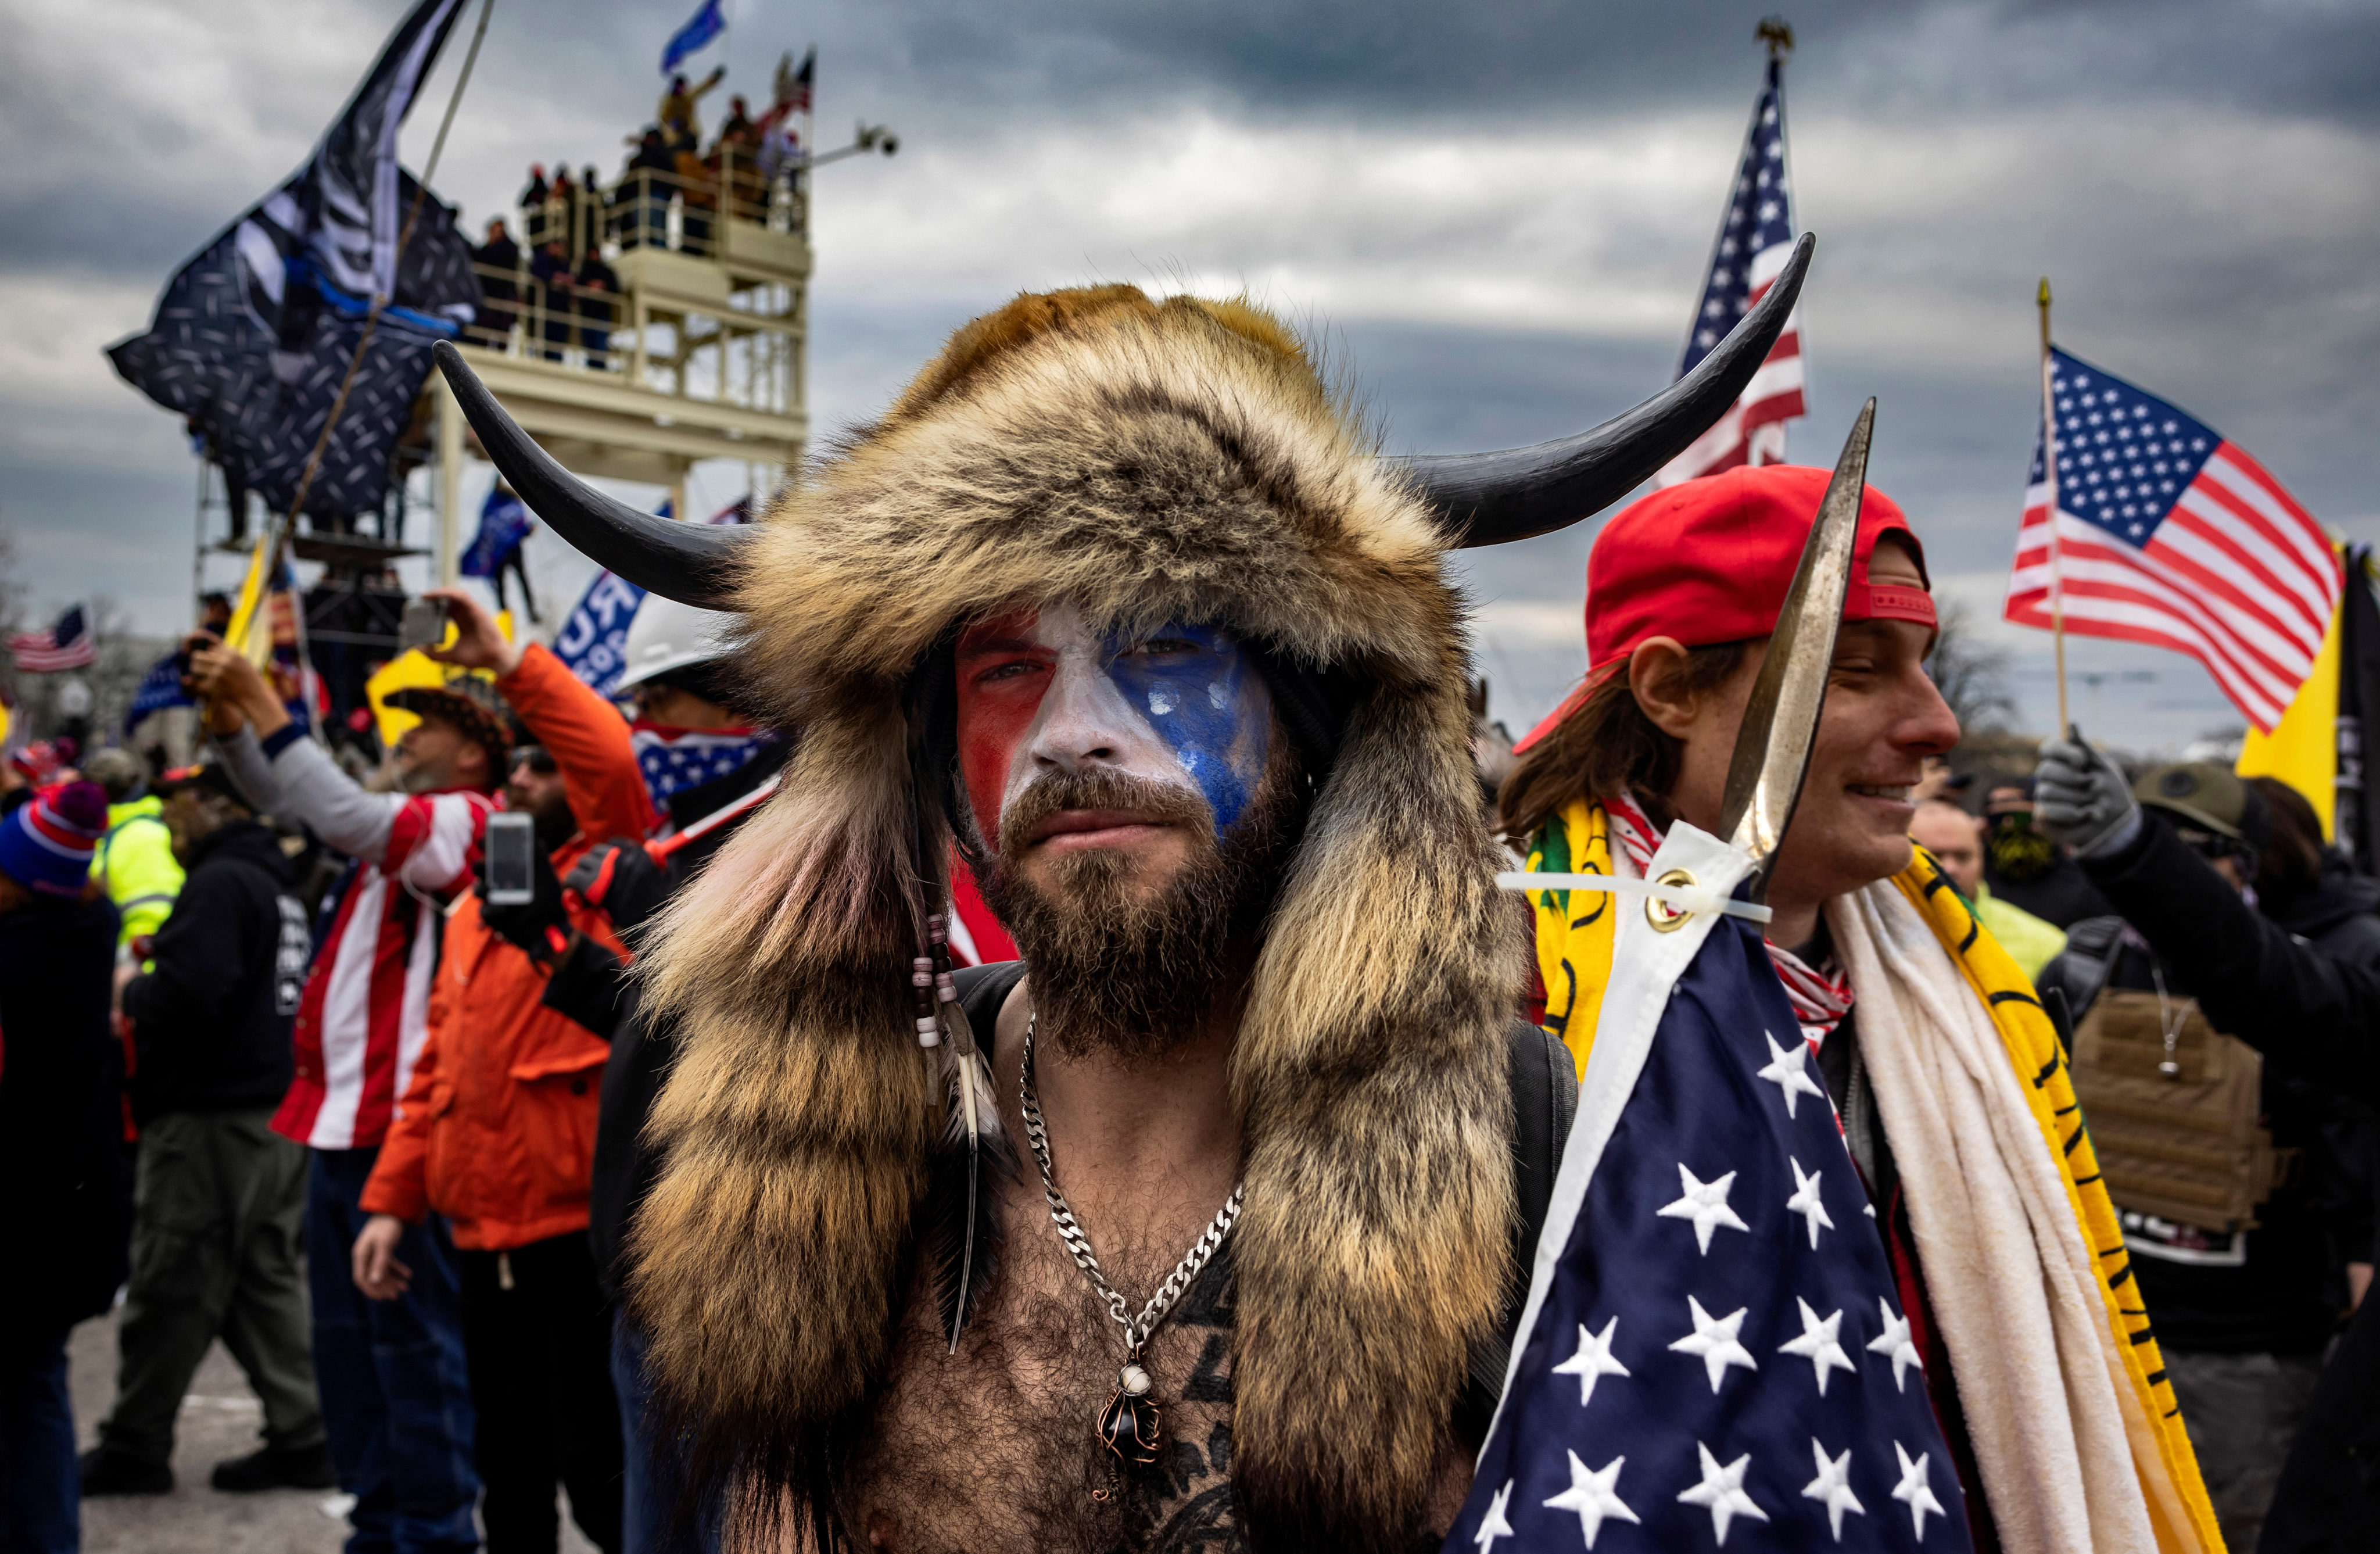
[[[188,871],[152,971],[124,988],[136,1121],[274,1107],[290,1088],[312,938],[281,840],[236,821],[200,838]]]

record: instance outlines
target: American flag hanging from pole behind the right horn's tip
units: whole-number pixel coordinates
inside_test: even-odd
[[[1711,250],[1711,278],[1702,286],[1702,305],[1695,309],[1685,357],[1678,362],[1680,378],[1695,371],[1768,293],[1787,257],[1792,257],[1792,200],[1785,190],[1785,62],[1771,59],[1768,86],[1752,107],[1745,162],[1728,193],[1728,219],[1718,226],[1718,245]],[[1737,464],[1783,464],[1785,421],[1799,414],[1806,412],[1797,307],[1728,414],[1671,459],[1654,483],[1676,485]]]

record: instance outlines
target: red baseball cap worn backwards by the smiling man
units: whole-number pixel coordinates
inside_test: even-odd
[[[1587,552],[1587,676],[1514,750],[1549,735],[1652,638],[1709,647],[1773,633],[1830,478],[1830,469],[1804,464],[1747,464],[1656,490],[1604,524]],[[1868,485],[1842,619],[1933,626],[1925,588],[1868,583],[1868,557],[1885,535],[1906,543],[1928,576],[1899,502]]]

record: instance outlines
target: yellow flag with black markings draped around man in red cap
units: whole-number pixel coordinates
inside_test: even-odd
[[[1530,840],[1530,873],[1611,873],[1611,828],[1602,804],[1573,800]],[[2006,1049],[2009,1069],[2040,1128],[2042,1149],[2056,1161],[2066,1202],[2082,1242],[2099,1259],[2099,1297],[2111,1349],[2121,1354],[2123,1383],[2140,1404],[2152,1440],[2135,1440],[2132,1461],[2142,1475],[2142,1497],[2156,1547],[2163,1554],[2216,1554],[2223,1535],[2199,1480],[2197,1456],[2182,1433],[2180,1406],[2132,1283],[2130,1257],[2116,1223],[2116,1207],[2099,1178],[2090,1130],[2066,1073],[2066,1059],[2033,983],[1975,921],[1940,866],[1918,852],[1909,869],[1892,878],[1923,923],[1949,952],[1959,976],[1990,1016]],[[1537,973],[1545,978],[1545,1028],[1568,1045],[1580,1073],[1595,1045],[1604,988],[1611,980],[1611,954],[1626,897],[1585,890],[1533,890],[1530,909],[1537,938]],[[1856,1019],[1856,1004],[1854,1004]]]

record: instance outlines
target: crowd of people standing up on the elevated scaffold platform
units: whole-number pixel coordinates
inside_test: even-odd
[[[704,148],[700,102],[719,81],[716,69],[693,83],[674,76],[654,121],[631,138],[628,159],[609,188],[595,164],[578,174],[566,162],[555,162],[552,174],[543,162],[531,164],[519,195],[519,238],[505,217],[495,217],[486,240],[471,250],[483,297],[471,324],[474,340],[502,347],[514,326],[524,326],[531,355],[559,362],[578,347],[588,366],[607,371],[619,324],[619,274],[605,259],[607,245],[612,252],[678,247],[709,255],[721,212],[769,221],[776,164],[788,150],[769,143],[740,95],[728,100],[728,114]]]

